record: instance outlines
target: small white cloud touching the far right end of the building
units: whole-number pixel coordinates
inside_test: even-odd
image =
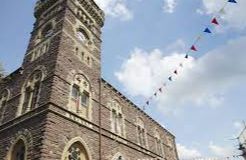
[[[177,144],[177,151],[180,159],[199,158],[202,154],[194,148],[187,148],[181,144]]]

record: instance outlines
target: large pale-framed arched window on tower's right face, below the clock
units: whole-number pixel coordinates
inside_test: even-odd
[[[76,75],[72,84],[69,110],[78,113],[84,118],[90,118],[91,112],[91,88],[87,78],[83,75]]]

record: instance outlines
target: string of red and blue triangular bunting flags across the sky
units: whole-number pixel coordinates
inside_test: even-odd
[[[170,83],[170,82],[173,82],[173,77],[174,76],[178,76],[180,74],[180,68],[183,68],[184,67],[184,61],[189,59],[190,57],[190,53],[194,53],[194,52],[198,52],[198,48],[197,48],[197,43],[203,38],[203,36],[205,36],[206,34],[212,34],[212,29],[215,27],[215,26],[219,26],[220,23],[219,23],[219,18],[221,15],[224,15],[226,14],[225,12],[225,8],[227,6],[228,3],[234,3],[236,4],[237,1],[236,0],[227,0],[224,4],[224,6],[219,10],[219,12],[217,13],[217,15],[214,15],[211,19],[211,21],[209,22],[209,25],[207,27],[205,27],[205,29],[202,31],[201,34],[199,34],[197,36],[197,38],[195,39],[194,43],[191,45],[191,47],[188,49],[188,51],[186,52],[185,56],[184,56],[184,59],[182,62],[180,62],[178,64],[178,66],[176,67],[177,69],[175,69],[171,74],[170,76],[168,77],[167,81],[164,82],[158,89],[156,89],[156,91],[153,93],[153,95],[151,97],[149,97],[145,104],[143,105],[143,110],[146,109],[146,106],[149,106],[152,99],[154,97],[157,97],[159,94],[162,94],[164,93],[165,91],[165,88],[167,87],[167,84]]]

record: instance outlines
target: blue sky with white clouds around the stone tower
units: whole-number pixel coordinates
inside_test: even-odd
[[[246,1],[96,0],[105,11],[102,77],[170,130],[181,159],[238,154],[246,107]],[[20,67],[35,0],[0,2],[0,61]],[[210,23],[218,16],[219,25]],[[203,33],[209,27],[211,34]],[[187,50],[198,35],[197,52]],[[183,67],[179,67],[182,62]],[[168,77],[178,69],[178,75]]]

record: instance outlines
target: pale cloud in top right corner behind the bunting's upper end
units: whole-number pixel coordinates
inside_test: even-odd
[[[203,0],[203,10],[198,9],[200,14],[216,14],[224,6],[224,0]],[[239,30],[246,29],[246,1],[237,0],[237,4],[228,3],[225,8],[225,14],[221,18],[225,21],[226,28],[234,28]]]

